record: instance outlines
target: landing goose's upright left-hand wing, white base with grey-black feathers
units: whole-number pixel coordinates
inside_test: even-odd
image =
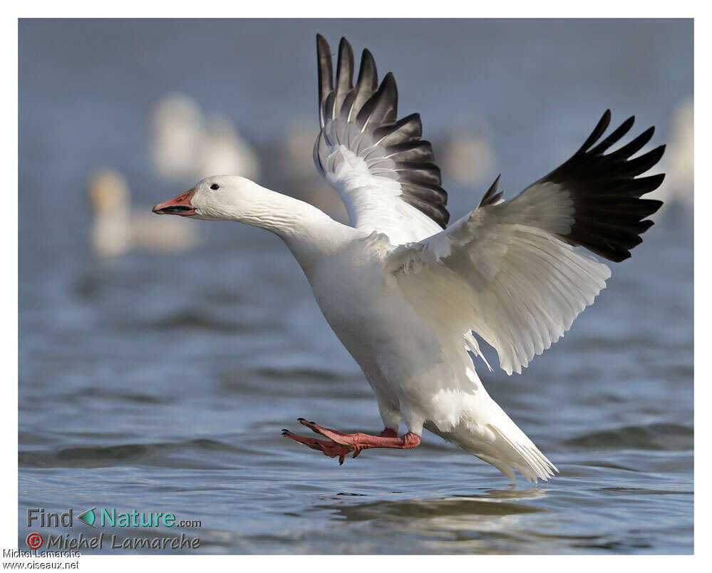
[[[316,36],[319,121],[314,163],[349,212],[351,224],[388,235],[393,244],[413,242],[444,229],[450,214],[430,143],[421,140],[420,115],[398,120],[392,73],[378,86],[376,63],[361,55],[356,87],[354,53],[339,43],[336,82],[329,44]]]

